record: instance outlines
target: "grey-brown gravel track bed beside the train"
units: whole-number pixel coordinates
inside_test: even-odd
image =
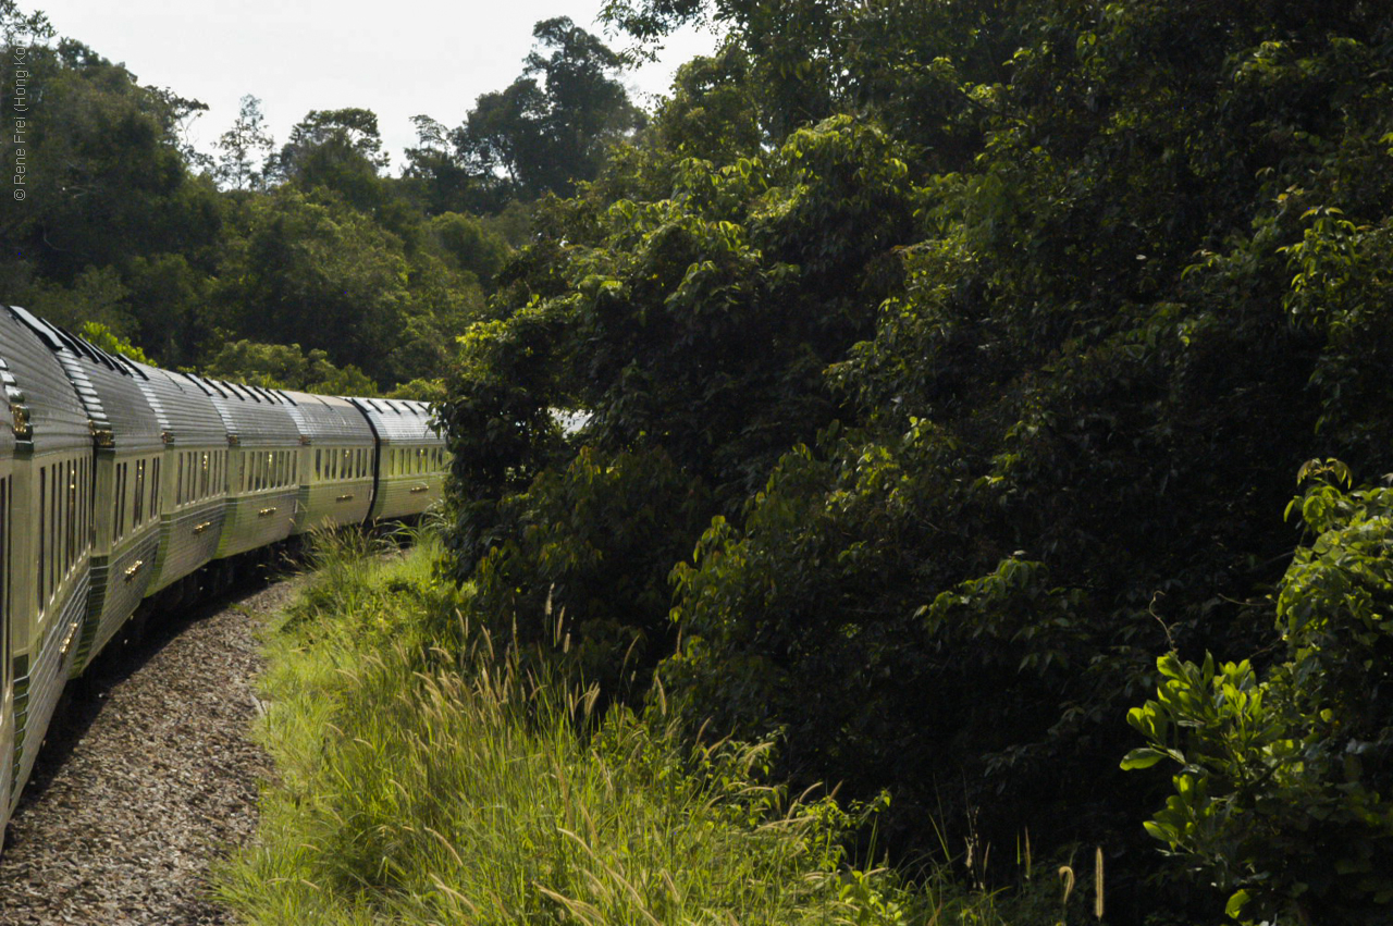
[[[256,826],[258,628],[293,582],[152,621],[56,721],[0,855],[0,923],[233,922],[209,866]]]

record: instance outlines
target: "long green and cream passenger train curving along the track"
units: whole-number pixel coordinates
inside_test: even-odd
[[[0,306],[0,847],[68,680],[142,602],[440,497],[423,402],[171,373]]]

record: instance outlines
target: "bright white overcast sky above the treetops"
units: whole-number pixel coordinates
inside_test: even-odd
[[[208,103],[189,141],[203,152],[237,117],[244,95],[284,142],[312,109],[362,106],[378,114],[391,173],[415,143],[411,117],[458,125],[481,93],[522,70],[532,25],[568,15],[610,47],[596,21],[603,0],[21,0],[60,35],[124,63],[142,84]],[[630,72],[635,102],[663,93],[677,65],[716,45],[709,32],[669,40],[660,60]]]

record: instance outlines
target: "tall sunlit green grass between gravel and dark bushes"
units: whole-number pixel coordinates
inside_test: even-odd
[[[854,869],[847,815],[761,783],[763,746],[589,716],[593,692],[471,632],[437,553],[332,542],[270,629],[280,780],[219,886],[245,922],[1003,922],[989,894]]]

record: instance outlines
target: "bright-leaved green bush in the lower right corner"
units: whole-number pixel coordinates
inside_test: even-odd
[[[1346,478],[1348,476],[1346,471]],[[1176,792],[1146,823],[1243,918],[1383,923],[1393,904],[1393,490],[1319,485],[1291,503],[1308,531],[1276,599],[1282,659],[1216,666],[1169,653],[1149,741]]]

